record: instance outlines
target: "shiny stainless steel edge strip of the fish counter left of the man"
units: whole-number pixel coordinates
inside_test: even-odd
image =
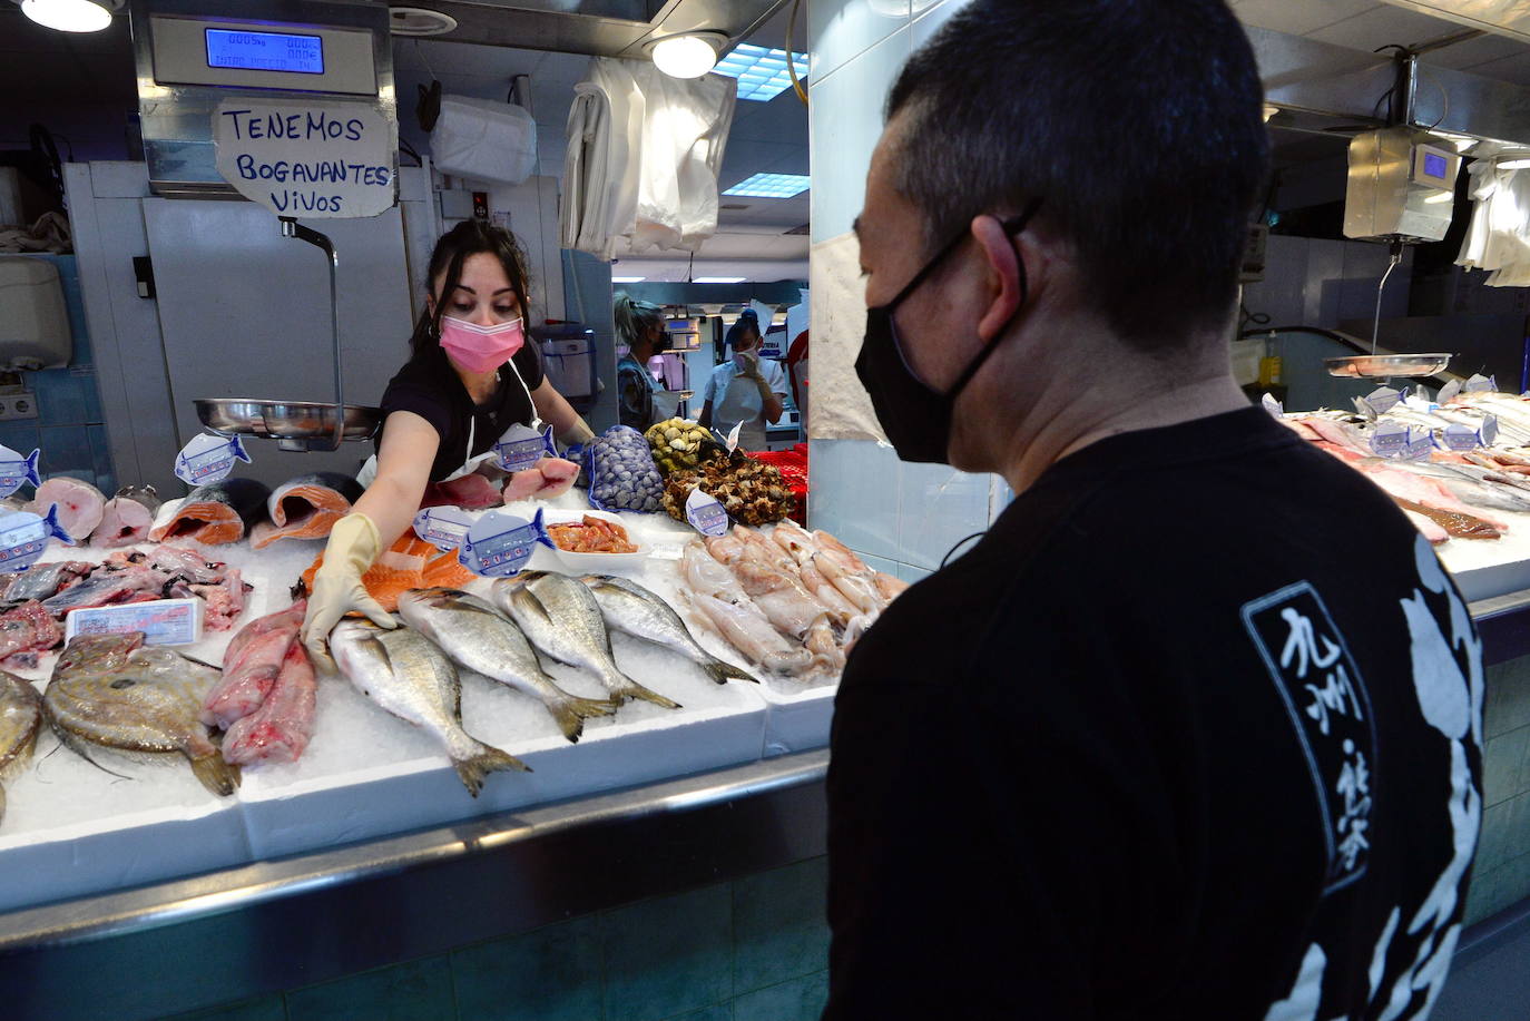
[[[828,761],[828,749],[803,752],[335,850],[256,862],[191,879],[26,908],[0,915],[0,955],[188,922],[329,886],[395,876],[516,845],[526,846],[572,831],[693,813],[814,785],[823,781]],[[811,834],[820,830],[822,824],[808,827],[809,833],[805,836],[809,843]],[[701,880],[705,882],[705,877]],[[633,889],[627,899],[646,892]]]

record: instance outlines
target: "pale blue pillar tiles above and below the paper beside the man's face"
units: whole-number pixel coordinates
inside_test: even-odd
[[[924,43],[959,0],[822,0],[809,11],[812,44],[812,239],[851,230],[866,167],[881,135],[887,89],[910,47]],[[988,527],[1008,504],[1002,479],[946,465],[903,464],[861,439],[811,444],[814,528],[826,528],[872,566],[916,582],[956,542]]]

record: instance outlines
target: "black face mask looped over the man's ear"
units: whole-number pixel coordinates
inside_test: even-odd
[[[1024,213],[1004,220],[1005,237],[1021,233],[1025,223],[1036,214],[1039,205],[1040,199],[1034,199],[1025,207]],[[1010,323],[1014,321],[1014,315],[1019,315],[1021,309],[1025,308],[1028,297],[1025,260],[1019,259],[1019,306],[1016,306],[1014,314],[993,335],[993,340],[962,369],[952,389],[946,393],[936,393],[913,373],[898,343],[898,326],[892,314],[913,292],[913,288],[924,283],[930,271],[967,237],[968,231],[962,231],[953,237],[944,248],[935,253],[933,259],[924,263],[923,269],[913,274],[913,279],[890,302],[866,309],[866,338],[861,341],[860,355],[855,358],[855,375],[860,377],[861,386],[871,395],[871,406],[877,412],[877,421],[881,424],[883,432],[887,433],[887,439],[903,461],[946,464],[946,449],[950,444],[952,435],[952,409],[956,407],[956,398],[961,396],[961,392],[988,360],[988,355],[999,346]],[[1010,243],[1013,245],[1014,242],[1011,240]],[[1017,256],[1019,253],[1016,251]]]

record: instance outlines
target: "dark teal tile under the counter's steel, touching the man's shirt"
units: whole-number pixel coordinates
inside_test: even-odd
[[[828,859],[733,883],[733,987],[763,989],[829,963]]]

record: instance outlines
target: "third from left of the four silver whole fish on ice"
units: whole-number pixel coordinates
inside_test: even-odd
[[[589,670],[618,703],[641,698],[664,709],[679,709],[679,703],[621,672],[610,655],[610,635],[600,603],[580,582],[566,574],[528,571],[523,579],[494,582],[493,595],[494,603],[520,625],[531,644],[558,663]]]

